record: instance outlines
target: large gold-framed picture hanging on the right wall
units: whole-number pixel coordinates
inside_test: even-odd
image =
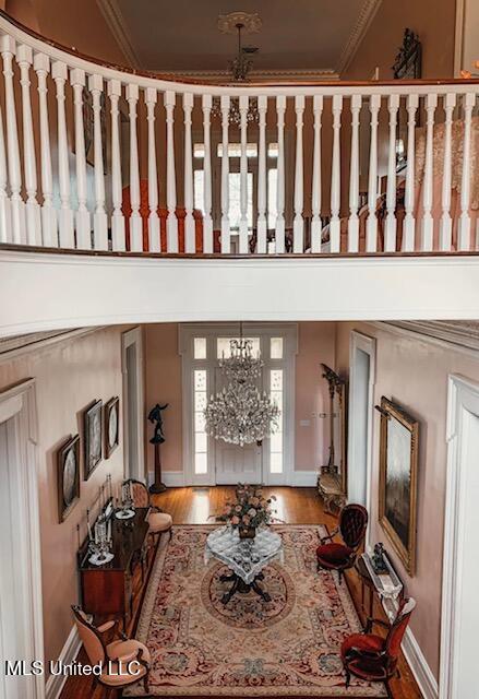
[[[380,412],[380,523],[414,576],[419,423],[384,396]]]

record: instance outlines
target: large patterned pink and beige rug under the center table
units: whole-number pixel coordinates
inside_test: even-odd
[[[381,683],[351,679],[345,687],[339,647],[360,630],[346,583],[316,572],[322,526],[275,526],[284,562],[261,582],[271,602],[254,592],[221,595],[228,569],[204,561],[213,526],[176,526],[158,550],[136,638],[151,653],[153,697],[386,697]],[[166,538],[166,537],[164,537]],[[142,697],[142,686],[124,690]]]

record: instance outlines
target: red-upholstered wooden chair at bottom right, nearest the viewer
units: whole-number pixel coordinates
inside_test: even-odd
[[[391,696],[388,680],[397,671],[400,642],[415,607],[412,597],[403,599],[392,626],[380,619],[368,619],[367,630],[371,630],[373,624],[388,629],[385,638],[366,632],[352,633],[343,641],[340,656],[346,687],[349,687],[351,675],[356,675],[367,682],[384,682]]]

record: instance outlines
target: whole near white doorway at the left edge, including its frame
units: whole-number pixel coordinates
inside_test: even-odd
[[[0,393],[1,699],[41,699],[45,677],[9,674],[44,660],[34,382]],[[17,671],[19,672],[19,671]]]

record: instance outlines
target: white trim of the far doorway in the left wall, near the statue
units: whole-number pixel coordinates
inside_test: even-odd
[[[128,371],[127,371],[127,350],[131,345],[136,345],[136,367],[135,367],[135,383],[136,383],[136,404],[137,404],[137,462],[140,464],[140,473],[137,476],[146,481],[146,464],[145,464],[145,415],[144,415],[144,371],[143,371],[143,332],[140,327],[133,328],[123,332],[121,335],[121,371],[123,375],[123,454],[124,454],[124,469],[125,477],[131,477],[131,467],[129,464],[129,445],[128,445]],[[143,465],[142,465],[143,464]]]

